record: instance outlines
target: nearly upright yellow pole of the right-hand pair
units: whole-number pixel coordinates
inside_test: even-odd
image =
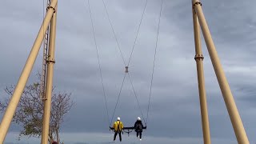
[[[209,127],[209,118],[207,110],[207,101],[206,101],[206,89],[205,89],[205,78],[203,74],[203,56],[202,56],[202,47],[200,40],[200,27],[198,25],[198,17],[195,14],[194,9],[193,13],[193,23],[194,23],[194,45],[195,45],[195,56],[194,59],[197,63],[198,71],[198,90],[199,90],[199,99],[200,99],[200,108],[201,108],[201,118],[202,118],[202,134],[204,144],[210,144],[210,127]]]

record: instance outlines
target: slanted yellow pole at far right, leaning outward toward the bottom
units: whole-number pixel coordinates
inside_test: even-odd
[[[222,69],[221,62],[218,58],[217,51],[214,46],[213,39],[210,35],[210,30],[206,23],[206,18],[204,17],[204,14],[202,13],[202,7],[201,2],[199,0],[193,0],[193,6],[196,14],[198,15],[198,21],[202,29],[202,34],[205,38],[206,46],[208,49],[208,52],[210,54],[211,62],[214,66],[215,74],[218,78],[218,84],[222,90],[222,95],[224,98],[224,101],[226,103],[226,108],[228,110],[228,113],[230,114],[230,120],[232,122],[232,126],[234,128],[234,133],[236,135],[236,138],[238,140],[238,143],[247,144],[249,143],[246,130],[244,129],[242,125],[242,120],[240,118],[240,115],[238,113],[238,108],[235,105],[233,95],[230,90],[230,86],[226,80],[226,76],[224,74],[224,71]]]

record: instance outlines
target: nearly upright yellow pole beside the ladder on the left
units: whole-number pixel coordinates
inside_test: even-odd
[[[53,90],[53,77],[54,77],[54,52],[55,52],[55,38],[56,38],[56,22],[57,22],[57,5],[55,13],[50,21],[50,41],[49,52],[47,59],[47,74],[46,74],[46,99],[43,100],[43,119],[42,119],[42,139],[41,144],[48,143],[49,126],[50,126],[50,106],[51,96]]]

